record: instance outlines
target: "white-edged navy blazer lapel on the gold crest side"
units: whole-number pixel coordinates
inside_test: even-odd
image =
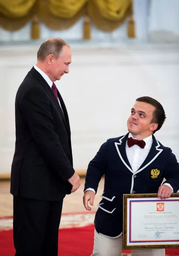
[[[139,173],[140,171],[145,169],[162,153],[163,149],[161,149],[161,145],[159,144],[159,141],[157,141],[157,139],[155,139],[154,135],[152,135],[152,139],[153,139],[153,143],[152,143],[151,149],[149,151],[149,154],[147,155],[144,162],[142,163],[142,165],[139,167],[139,169],[135,173]]]

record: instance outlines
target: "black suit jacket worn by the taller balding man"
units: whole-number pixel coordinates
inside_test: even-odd
[[[58,92],[34,67],[20,85],[15,101],[16,145],[10,192],[37,200],[61,200],[70,194],[73,174],[70,125]]]

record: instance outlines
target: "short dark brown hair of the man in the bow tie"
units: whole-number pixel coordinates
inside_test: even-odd
[[[155,131],[153,131],[153,133],[155,133],[156,131],[159,131],[159,129],[162,127],[162,125],[166,119],[165,111],[164,111],[161,103],[159,103],[156,99],[153,99],[148,96],[137,98],[136,101],[146,102],[155,107],[155,111],[153,112],[153,119],[152,119],[151,123],[158,123],[157,129]]]

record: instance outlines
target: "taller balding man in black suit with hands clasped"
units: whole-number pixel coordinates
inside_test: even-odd
[[[57,256],[63,198],[80,186],[72,167],[68,114],[54,84],[69,73],[70,62],[66,42],[46,40],[16,94],[10,185],[16,256]]]

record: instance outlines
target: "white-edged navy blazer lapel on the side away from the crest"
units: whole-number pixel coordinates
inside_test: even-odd
[[[129,133],[127,133],[125,136],[123,136],[121,139],[119,139],[119,142],[115,142],[115,147],[117,149],[117,153],[119,154],[119,157],[121,158],[121,161],[123,164],[133,173],[133,170],[131,168],[131,165],[129,163],[129,160],[126,155],[126,141],[129,136]]]

